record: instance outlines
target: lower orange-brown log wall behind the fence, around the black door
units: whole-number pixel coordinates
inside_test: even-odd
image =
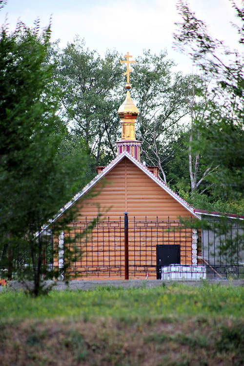
[[[103,224],[103,223],[100,223]],[[80,233],[82,230],[80,231]],[[77,227],[65,234],[74,239],[79,234]],[[191,229],[167,228],[150,230],[129,228],[129,274],[130,278],[145,278],[149,273],[156,279],[156,244],[181,244],[181,264],[191,264]],[[55,241],[57,243],[57,241]],[[56,244],[57,245],[57,244]],[[124,277],[123,225],[120,228],[96,227],[82,240],[78,239],[77,249],[82,256],[70,263],[69,272],[78,272],[87,279],[122,279]],[[56,265],[58,263],[56,262]]]

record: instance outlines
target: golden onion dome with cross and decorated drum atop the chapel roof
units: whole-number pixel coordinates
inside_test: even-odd
[[[127,92],[124,102],[118,109],[118,115],[122,124],[122,136],[121,140],[116,142],[117,151],[118,155],[122,154],[123,151],[127,151],[135,159],[140,161],[140,147],[142,142],[135,138],[135,122],[139,111],[130,97],[130,72],[132,69],[129,68],[129,64],[136,61],[129,60],[129,58],[132,57],[129,55],[129,52],[127,52],[124,57],[126,58],[126,61],[121,62],[125,62],[127,64],[127,71],[124,73],[124,75],[127,75],[127,82],[125,84]]]

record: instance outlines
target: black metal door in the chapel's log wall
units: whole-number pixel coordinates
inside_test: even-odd
[[[161,279],[161,267],[169,264],[181,264],[181,246],[178,244],[158,244],[157,279]]]

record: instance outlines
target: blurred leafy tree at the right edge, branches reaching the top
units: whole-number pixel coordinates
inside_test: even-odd
[[[243,21],[244,11],[234,2],[232,6],[238,20]],[[240,201],[244,181],[244,56],[212,38],[187,2],[179,1],[177,7],[183,22],[174,35],[176,44],[203,70],[205,79],[210,81],[208,98],[215,101],[215,107],[207,109],[207,120],[195,120],[198,140],[192,139],[190,148],[195,153],[198,150],[209,166],[218,166],[208,177],[212,188],[206,193],[215,201]],[[236,28],[242,44],[244,27]]]

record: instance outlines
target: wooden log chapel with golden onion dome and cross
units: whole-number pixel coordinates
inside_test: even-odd
[[[125,273],[124,213],[128,217],[128,266],[130,279],[156,279],[162,265],[196,265],[201,249],[195,229],[184,227],[179,217],[198,219],[194,208],[173,192],[159,177],[158,167],[145,166],[140,159],[141,141],[135,138],[138,109],[130,97],[130,56],[127,64],[126,98],[118,110],[122,137],[117,141],[117,157],[88,183],[57,215],[70,207],[77,209],[76,221],[68,232],[54,238],[60,252],[67,236],[82,233],[97,217],[96,227],[76,243],[81,258],[70,264],[70,273],[81,279],[123,279]],[[93,191],[97,195],[90,195]],[[54,265],[62,268],[60,254]]]

